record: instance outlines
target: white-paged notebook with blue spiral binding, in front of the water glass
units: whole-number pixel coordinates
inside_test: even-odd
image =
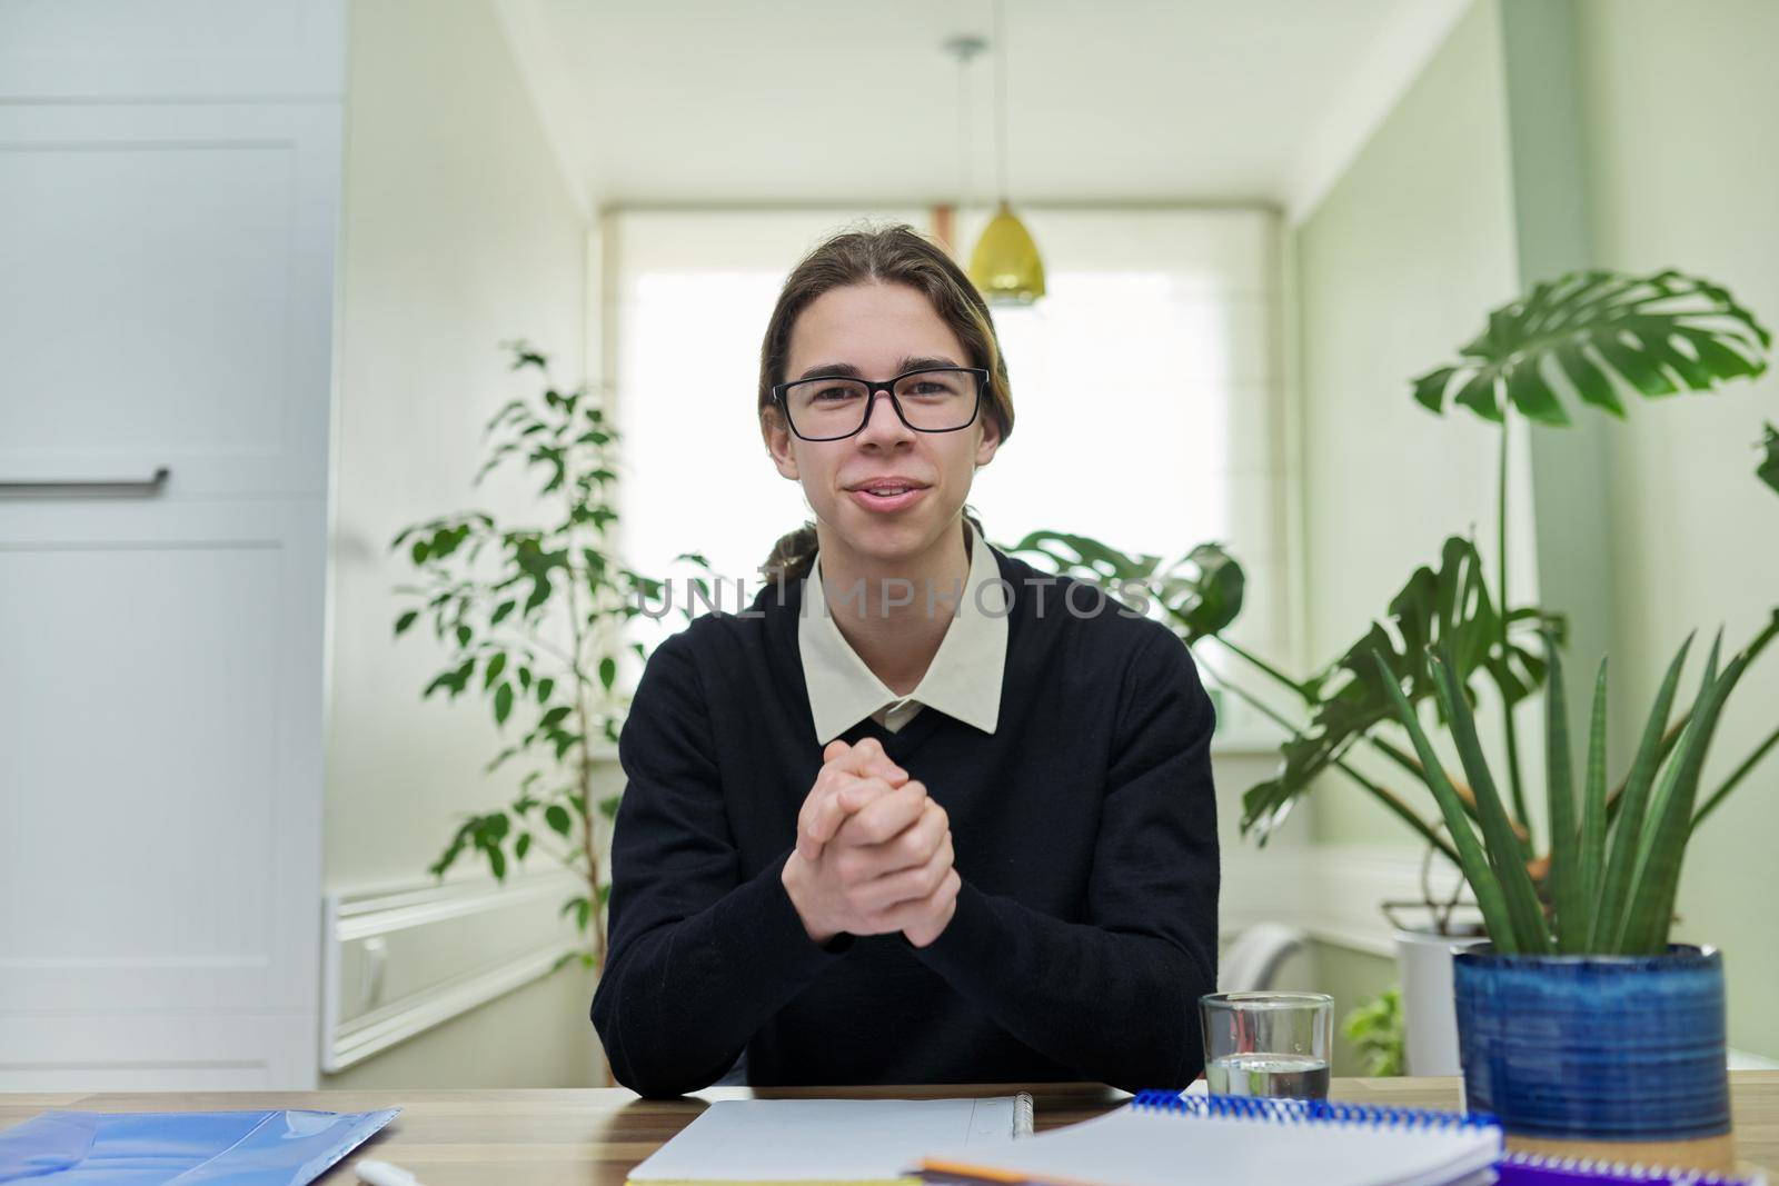
[[[1044,1186],[1487,1186],[1500,1156],[1491,1117],[1142,1092],[1012,1145],[927,1154],[922,1175]]]

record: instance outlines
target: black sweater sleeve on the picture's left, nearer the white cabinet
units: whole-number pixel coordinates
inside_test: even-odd
[[[610,948],[592,1024],[619,1083],[651,1099],[710,1086],[754,1031],[840,960],[809,939],[779,873],[740,875],[690,631],[649,656],[617,740]]]

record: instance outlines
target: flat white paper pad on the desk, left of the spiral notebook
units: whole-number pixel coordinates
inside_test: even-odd
[[[929,1149],[978,1152],[1032,1131],[1032,1097],[722,1099],[630,1172],[633,1186],[913,1182]]]

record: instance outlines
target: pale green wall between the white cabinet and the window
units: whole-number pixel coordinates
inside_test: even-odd
[[[482,427],[528,338],[578,382],[587,219],[486,0],[354,0],[333,525],[326,884],[425,880],[457,813],[511,795],[480,702],[422,701],[439,653],[397,644],[388,542],[461,509],[528,523],[523,487],[475,489]],[[527,372],[534,375],[535,372]],[[466,964],[475,951],[464,951]],[[587,1085],[591,982],[562,973],[331,1076],[333,1086]],[[498,1037],[495,1037],[498,1035]]]

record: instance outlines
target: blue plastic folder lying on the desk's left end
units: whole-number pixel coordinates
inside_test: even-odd
[[[304,1186],[398,1111],[46,1111],[0,1133],[0,1182]]]

